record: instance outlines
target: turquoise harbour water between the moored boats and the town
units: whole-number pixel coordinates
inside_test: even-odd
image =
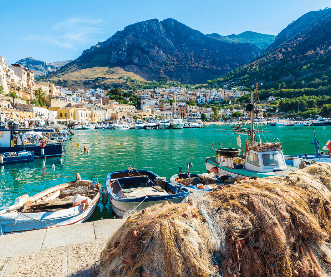
[[[227,129],[229,132],[212,131],[214,129]],[[315,152],[314,146],[309,144],[313,142],[311,126],[263,129],[268,131],[263,133],[266,139],[278,138],[282,141],[284,155]],[[315,131],[322,149],[331,139],[331,126],[318,126]],[[129,165],[151,170],[169,179],[178,172],[179,166],[187,171],[187,163],[192,162],[190,172],[203,173],[206,172],[205,158],[214,155],[212,142],[214,148],[218,148],[217,141],[223,148],[237,148],[238,136],[227,135],[231,133],[229,126],[208,124],[206,128],[181,130],[74,130],[73,133],[72,141],[67,142],[69,147],[63,156],[63,163],[60,163],[59,157],[46,160],[36,158],[34,163],[0,166],[0,209],[12,205],[15,198],[22,194],[31,196],[48,187],[72,181],[76,172],[83,179],[91,179],[92,173],[97,173],[103,187],[109,172],[125,170]],[[265,141],[263,135],[260,136]],[[246,138],[241,136],[243,143]],[[90,150],[89,154],[83,152],[83,145]],[[109,203],[103,208],[100,202],[93,220],[110,217],[108,208]]]

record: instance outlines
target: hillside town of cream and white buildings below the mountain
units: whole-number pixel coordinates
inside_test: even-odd
[[[54,83],[35,81],[34,74],[28,68],[15,63],[8,65],[5,58],[0,56],[0,85],[3,95],[16,94],[17,98],[0,96],[2,120],[12,114],[15,119],[43,120],[43,121],[77,121],[81,123],[96,123],[107,120],[132,120],[134,118],[171,118],[173,115],[195,121],[204,113],[206,119],[214,114],[211,108],[203,108],[197,104],[231,103],[235,98],[249,92],[239,91],[242,87],[231,90],[198,89],[187,90],[185,87],[168,87],[148,90],[124,91],[124,95],[134,95],[138,98],[137,106],[132,105],[130,98],[125,103],[117,102],[108,96],[111,89],[101,88],[69,90]],[[45,104],[39,106],[36,92],[47,97]],[[190,101],[191,105],[187,102]],[[123,101],[121,101],[123,102]],[[194,104],[194,103],[195,104]],[[244,113],[244,110],[222,109],[216,116],[226,117],[234,112]]]

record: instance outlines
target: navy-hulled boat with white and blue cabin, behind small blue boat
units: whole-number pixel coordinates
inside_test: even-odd
[[[40,145],[40,139],[44,139],[42,133],[52,133],[52,129],[1,129],[0,152],[24,152],[30,151],[35,157],[61,157],[63,145],[61,142],[45,142]]]

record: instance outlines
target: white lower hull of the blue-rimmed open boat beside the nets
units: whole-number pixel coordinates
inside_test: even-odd
[[[113,212],[120,217],[124,217],[126,213],[132,212],[132,210],[137,206],[138,206],[137,210],[140,211],[140,210],[146,209],[149,206],[163,203],[164,201],[165,200],[142,202],[139,206],[138,206],[138,204],[140,202],[120,202],[120,201],[116,201],[116,200],[110,200],[110,203],[112,205]],[[173,202],[173,203],[187,203],[187,201],[188,201],[188,196],[171,199],[171,202]]]

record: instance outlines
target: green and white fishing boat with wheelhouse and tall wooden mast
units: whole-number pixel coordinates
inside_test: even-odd
[[[261,84],[262,85],[262,84]],[[251,95],[251,103],[246,107],[246,111],[251,111],[251,129],[242,129],[242,124],[232,129],[232,134],[242,134],[250,136],[250,141],[245,143],[245,153],[239,155],[240,149],[236,148],[221,148],[219,143],[218,149],[215,151],[215,156],[207,157],[205,166],[208,173],[214,172],[217,176],[228,174],[233,178],[262,178],[267,176],[286,176],[291,172],[298,170],[297,167],[287,165],[282,151],[280,142],[256,142],[256,133],[261,133],[263,130],[254,129],[254,118],[257,109],[257,103],[254,106],[254,97],[257,95],[256,84],[255,91]],[[255,98],[257,99],[257,98]],[[237,138],[237,145],[241,145],[240,135]]]

